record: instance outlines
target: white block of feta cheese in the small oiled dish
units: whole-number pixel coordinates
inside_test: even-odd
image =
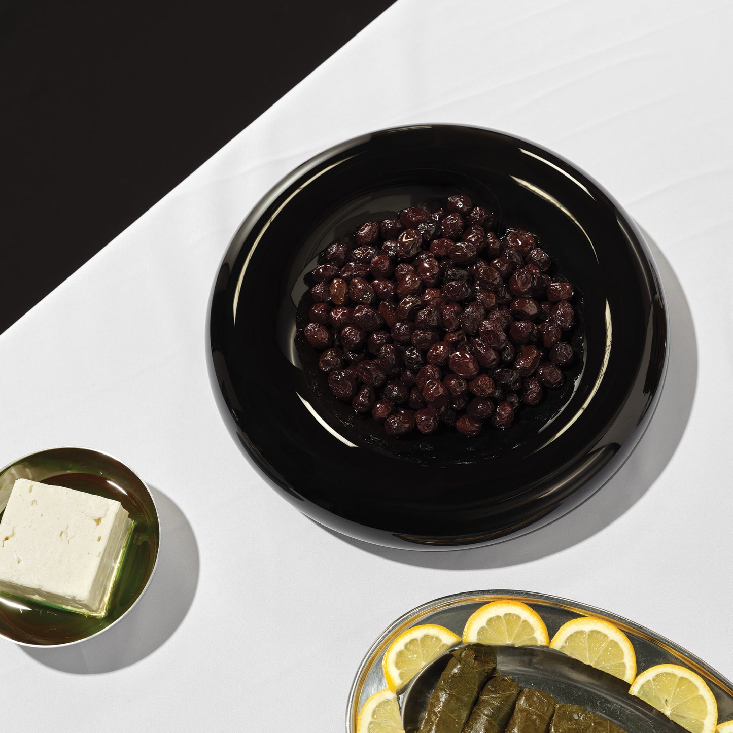
[[[0,593],[104,616],[132,525],[119,501],[17,479],[0,520]]]

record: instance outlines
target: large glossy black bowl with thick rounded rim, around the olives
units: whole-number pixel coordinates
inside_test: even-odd
[[[331,397],[298,347],[303,275],[364,221],[457,191],[539,236],[578,292],[583,358],[509,430],[397,441]],[[534,143],[456,125],[383,130],[287,175],[235,234],[209,320],[219,406],[270,485],[325,526],[402,548],[488,544],[577,506],[641,438],[667,356],[658,274],[614,199]]]

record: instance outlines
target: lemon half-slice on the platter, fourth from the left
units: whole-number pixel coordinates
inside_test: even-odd
[[[557,649],[625,682],[631,682],[636,675],[636,654],[628,637],[602,619],[582,616],[568,621],[553,636],[550,649]]]

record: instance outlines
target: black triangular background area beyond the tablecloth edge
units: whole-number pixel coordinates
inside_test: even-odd
[[[0,0],[0,331],[394,0]]]

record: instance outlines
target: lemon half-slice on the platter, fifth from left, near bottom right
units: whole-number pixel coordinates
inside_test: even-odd
[[[658,664],[633,682],[631,695],[648,702],[690,733],[714,733],[718,704],[704,679],[677,664]]]

